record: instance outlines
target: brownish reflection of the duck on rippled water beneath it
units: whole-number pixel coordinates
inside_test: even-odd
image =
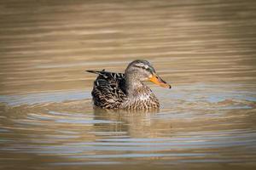
[[[96,132],[106,132],[113,135],[113,138],[118,136],[129,136],[130,138],[154,138],[159,135],[158,130],[166,127],[166,122],[162,124],[160,120],[155,119],[155,115],[159,112],[158,109],[150,111],[113,111],[94,108],[95,120],[100,120],[101,123],[95,123]],[[102,121],[107,121],[102,123]],[[168,126],[170,122],[168,122]],[[102,134],[101,133],[101,134]],[[109,136],[108,136],[109,137]]]

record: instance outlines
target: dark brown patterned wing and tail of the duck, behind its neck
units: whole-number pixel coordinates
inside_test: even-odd
[[[94,104],[105,108],[119,108],[125,99],[125,74],[102,71],[88,71],[98,74],[91,92]]]

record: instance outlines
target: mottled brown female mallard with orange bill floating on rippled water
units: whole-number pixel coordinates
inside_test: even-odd
[[[171,88],[154,71],[147,60],[132,61],[125,74],[88,71],[99,76],[91,92],[94,104],[103,109],[152,109],[159,108],[159,101],[144,81],[151,81],[164,88]]]

